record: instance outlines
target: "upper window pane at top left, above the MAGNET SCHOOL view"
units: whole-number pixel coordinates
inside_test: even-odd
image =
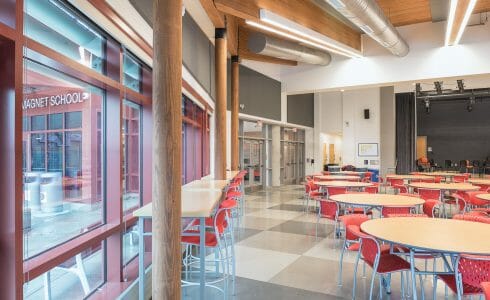
[[[59,0],[25,0],[24,12],[26,36],[104,72],[105,39],[71,7]]]

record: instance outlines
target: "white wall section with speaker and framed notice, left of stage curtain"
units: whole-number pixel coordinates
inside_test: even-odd
[[[380,91],[379,88],[343,92],[343,145],[342,164],[356,167],[379,168],[379,151],[376,157],[359,157],[359,143],[380,143]],[[369,109],[370,118],[364,119],[364,109]],[[364,164],[364,160],[378,164]]]

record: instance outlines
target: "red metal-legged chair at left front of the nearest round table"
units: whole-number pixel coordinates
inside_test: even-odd
[[[410,263],[398,255],[382,253],[382,247],[379,242],[374,237],[362,233],[358,226],[351,225],[349,226],[349,230],[351,231],[353,236],[355,236],[361,242],[356,259],[356,264],[354,266],[354,283],[352,287],[352,295],[356,295],[357,266],[361,257],[364,262],[373,269],[373,273],[371,276],[371,288],[369,292],[370,300],[373,297],[374,279],[378,274],[385,275],[395,272],[401,272],[401,293],[402,295],[404,295],[403,272],[410,271]],[[422,282],[421,277],[420,281]],[[379,294],[382,295],[382,293],[382,285],[380,285]]]

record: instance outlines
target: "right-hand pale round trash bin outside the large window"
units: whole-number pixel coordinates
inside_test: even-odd
[[[53,213],[63,211],[61,172],[41,174],[41,209]]]

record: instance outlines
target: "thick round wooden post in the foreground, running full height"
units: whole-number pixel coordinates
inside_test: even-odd
[[[153,20],[152,298],[180,299],[182,0],[154,0]]]

